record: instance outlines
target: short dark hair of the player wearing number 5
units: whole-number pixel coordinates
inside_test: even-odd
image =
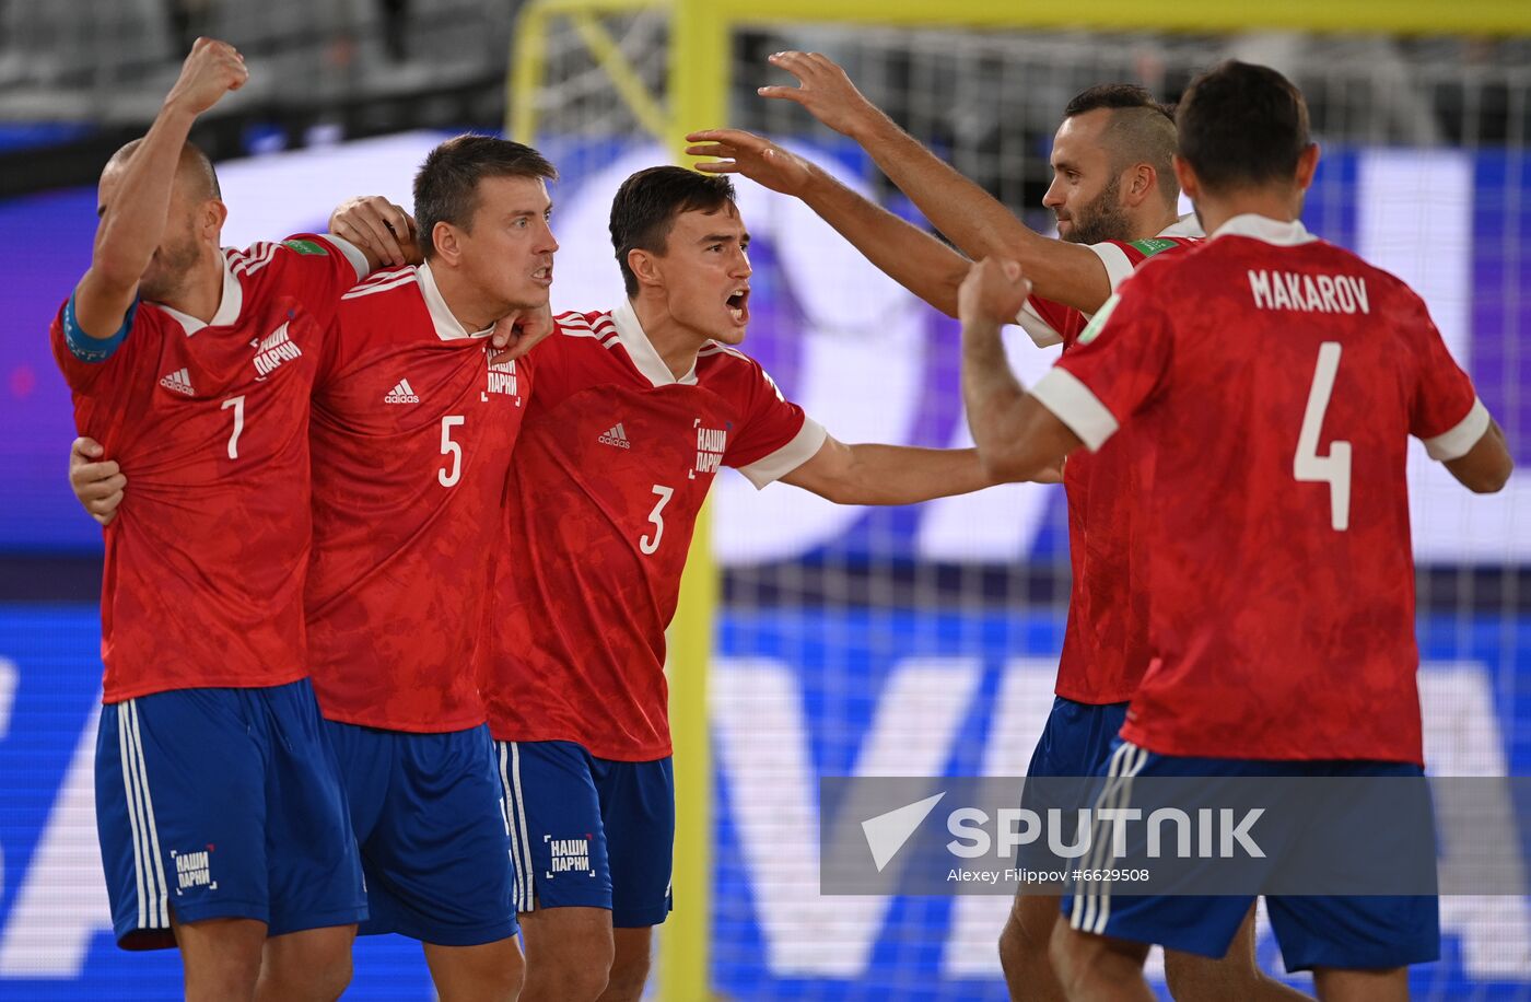
[[[415,175],[415,222],[419,224],[421,251],[429,260],[436,253],[435,228],[450,222],[473,231],[479,181],[484,178],[544,178],[559,172],[530,146],[495,136],[465,133],[433,149]]]

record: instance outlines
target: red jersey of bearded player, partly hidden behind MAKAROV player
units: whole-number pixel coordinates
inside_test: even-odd
[[[1194,236],[1191,236],[1194,234]],[[1182,219],[1150,241],[1092,244],[1115,291],[1138,265],[1194,247],[1200,227]],[[1032,296],[1017,320],[1038,346],[1078,345],[1089,317]],[[1058,659],[1056,693],[1079,703],[1121,703],[1133,697],[1148,666],[1148,590],[1144,559],[1134,559],[1131,429],[1096,454],[1076,452],[1063,467],[1069,498],[1069,624]]]

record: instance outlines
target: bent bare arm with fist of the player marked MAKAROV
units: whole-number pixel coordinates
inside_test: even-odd
[[[1029,293],[1030,283],[1014,260],[980,260],[961,283],[961,397],[983,473],[997,483],[1036,480],[1061,469],[1082,444],[1026,392],[1004,357],[1000,328]]]

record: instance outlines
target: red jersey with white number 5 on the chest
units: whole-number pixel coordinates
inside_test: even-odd
[[[525,372],[447,309],[429,265],[344,294],[314,391],[309,656],[325,717],[484,723],[473,668]]]

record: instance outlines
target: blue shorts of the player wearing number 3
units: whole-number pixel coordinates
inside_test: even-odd
[[[495,742],[516,861],[516,910],[611,910],[615,928],[674,907],[669,758],[612,761],[574,742]]]

